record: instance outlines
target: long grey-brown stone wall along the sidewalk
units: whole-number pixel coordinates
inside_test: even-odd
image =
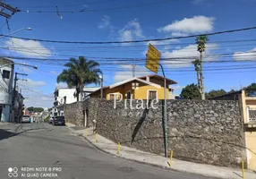
[[[145,100],[143,103],[147,104]],[[136,106],[141,105],[132,101],[132,107]],[[98,98],[83,102],[76,107],[77,112],[80,107],[89,110],[90,124],[97,120],[99,134],[132,148],[164,155],[163,100],[154,105],[156,109],[131,109],[129,103],[125,109],[124,102],[117,103],[114,109],[113,101]],[[69,116],[74,118],[75,114]],[[81,124],[77,121],[81,117],[73,120],[74,124]],[[246,159],[238,101],[167,100],[167,126],[168,151],[174,150],[175,158],[237,167]]]

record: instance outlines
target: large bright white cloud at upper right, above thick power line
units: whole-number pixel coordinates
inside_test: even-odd
[[[174,21],[165,27],[159,28],[159,32],[203,33],[213,30],[215,18],[206,16],[194,16],[184,18],[182,21]]]

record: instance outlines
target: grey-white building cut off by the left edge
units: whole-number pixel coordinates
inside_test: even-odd
[[[13,118],[11,116],[14,72],[13,61],[1,57],[0,72],[0,121],[11,122]]]

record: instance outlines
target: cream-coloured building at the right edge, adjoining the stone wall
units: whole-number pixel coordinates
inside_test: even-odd
[[[245,90],[238,90],[210,99],[239,100],[243,114],[247,167],[256,170],[256,96],[251,96]]]

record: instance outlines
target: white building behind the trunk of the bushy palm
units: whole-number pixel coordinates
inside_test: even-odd
[[[98,87],[85,87],[83,89],[83,98],[88,98],[90,93],[98,90]],[[52,115],[64,115],[64,105],[71,104],[77,101],[76,90],[70,88],[56,88],[55,102],[52,109]]]

